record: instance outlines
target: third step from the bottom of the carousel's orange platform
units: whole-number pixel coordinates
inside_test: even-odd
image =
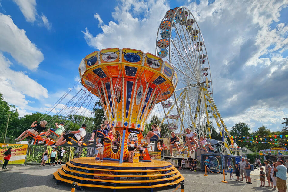
[[[78,174],[83,174],[83,175],[95,175],[95,176],[103,176],[103,177],[107,177],[107,174],[97,174],[97,173],[85,173],[83,171],[77,171],[77,170],[72,170],[69,169],[68,167],[66,167],[65,165],[62,165],[62,169],[65,171],[69,171],[69,172],[73,172],[73,173],[78,173]],[[82,167],[82,169],[84,169]],[[59,170],[59,169],[58,169]],[[60,169],[61,170],[61,169]],[[117,172],[117,171],[113,171],[110,170],[112,172]],[[133,173],[133,172],[139,172],[138,170],[130,170],[129,173]],[[174,171],[168,172],[168,173],[164,173],[164,174],[147,174],[147,175],[129,175],[129,177],[155,177],[155,176],[169,176],[172,174],[176,174],[178,173],[178,170],[175,169]],[[109,177],[127,177],[127,175],[114,175],[114,174],[109,174]]]

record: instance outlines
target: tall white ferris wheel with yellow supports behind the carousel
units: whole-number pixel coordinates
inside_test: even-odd
[[[202,33],[186,7],[166,12],[158,28],[155,52],[177,73],[177,80],[173,79],[177,81],[174,98],[162,102],[165,117],[161,123],[167,121],[168,128],[179,133],[190,127],[199,136],[211,138],[212,124],[216,122],[220,134],[224,128],[231,139],[213,101],[210,64]],[[227,139],[225,147],[230,151]]]

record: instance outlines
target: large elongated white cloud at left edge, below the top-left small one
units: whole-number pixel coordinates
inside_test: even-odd
[[[36,69],[44,59],[41,51],[32,43],[23,29],[19,29],[9,15],[0,13],[0,50],[27,67]]]

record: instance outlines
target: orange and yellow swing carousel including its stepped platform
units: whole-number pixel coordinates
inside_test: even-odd
[[[143,159],[138,160],[135,151],[154,105],[174,93],[177,85],[174,68],[150,53],[109,48],[82,59],[79,74],[86,90],[99,98],[103,121],[111,122],[114,134],[96,132],[97,138],[104,139],[104,162],[96,161],[99,154],[96,159],[71,159],[54,173],[57,182],[75,180],[79,186],[152,191],[155,187],[176,187],[183,181],[184,177],[171,163],[151,160],[147,148]],[[91,144],[88,139],[85,137],[83,145]],[[156,135],[151,137],[151,141],[158,139]]]

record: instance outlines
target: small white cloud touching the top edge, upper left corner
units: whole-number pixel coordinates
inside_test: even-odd
[[[35,22],[36,20],[36,1],[35,0],[13,0],[18,7],[20,8],[21,12],[23,13],[26,21],[28,22]]]

